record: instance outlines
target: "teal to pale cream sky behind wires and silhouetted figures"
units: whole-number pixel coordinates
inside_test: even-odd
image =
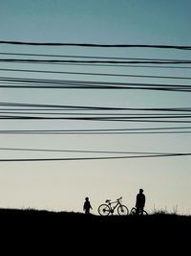
[[[191,214],[191,156],[154,157],[156,153],[191,153],[190,119],[185,117],[189,115],[189,109],[187,112],[148,110],[191,107],[189,90],[150,89],[153,84],[190,85],[189,63],[158,62],[169,59],[190,61],[190,51],[80,46],[82,43],[191,46],[190,9],[191,2],[188,0],[1,0],[1,208],[83,212],[83,202],[89,197],[92,213],[97,215],[99,204],[108,198],[115,200],[122,197],[122,202],[131,209],[135,206],[139,188],[142,188],[148,212],[166,210]],[[78,45],[17,45],[6,41]],[[32,62],[32,59],[48,61]],[[70,61],[51,62],[53,59]],[[74,63],[74,60],[78,62]],[[88,62],[91,60],[113,60],[116,63]],[[122,63],[130,60],[155,60],[158,63]],[[46,84],[53,86],[39,88],[45,80]],[[54,86],[76,83],[90,85],[93,81],[98,85],[140,83],[147,89]],[[8,86],[18,84],[34,84],[37,87]],[[47,109],[42,110],[43,105]],[[53,105],[68,108],[61,110],[53,108]],[[73,108],[76,106],[77,110]],[[63,117],[58,111],[65,113],[64,117],[75,119],[3,119],[5,116]],[[130,118],[126,121],[82,119],[87,116],[111,117],[109,114],[116,118],[129,114],[138,116],[134,121]],[[167,116],[162,119],[163,122],[153,122],[161,121],[156,117],[148,122],[151,114]],[[176,119],[169,116],[171,114],[183,116]],[[140,117],[143,122],[138,122]],[[142,133],[127,133],[138,131],[138,128]],[[117,132],[125,129],[126,133],[100,133],[103,129],[110,130],[110,133],[112,129]],[[41,130],[41,133],[37,134],[34,132],[36,130]],[[54,132],[46,134],[48,130]],[[58,134],[55,130],[70,132]],[[78,133],[72,134],[74,130],[78,130]],[[145,154],[150,157],[93,159]]]

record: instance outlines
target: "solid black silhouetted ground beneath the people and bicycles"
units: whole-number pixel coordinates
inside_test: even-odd
[[[6,255],[173,255],[190,251],[191,216],[86,216],[74,212],[0,209]]]

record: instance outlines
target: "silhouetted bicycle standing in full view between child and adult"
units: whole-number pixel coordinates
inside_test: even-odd
[[[112,201],[110,199],[105,200],[105,203],[102,203],[98,207],[98,213],[101,216],[108,216],[109,214],[114,214],[115,210],[117,209],[117,214],[118,215],[129,215],[129,209],[127,206],[123,205],[121,203],[121,199],[117,198],[115,201]],[[112,207],[112,204],[114,206]]]

